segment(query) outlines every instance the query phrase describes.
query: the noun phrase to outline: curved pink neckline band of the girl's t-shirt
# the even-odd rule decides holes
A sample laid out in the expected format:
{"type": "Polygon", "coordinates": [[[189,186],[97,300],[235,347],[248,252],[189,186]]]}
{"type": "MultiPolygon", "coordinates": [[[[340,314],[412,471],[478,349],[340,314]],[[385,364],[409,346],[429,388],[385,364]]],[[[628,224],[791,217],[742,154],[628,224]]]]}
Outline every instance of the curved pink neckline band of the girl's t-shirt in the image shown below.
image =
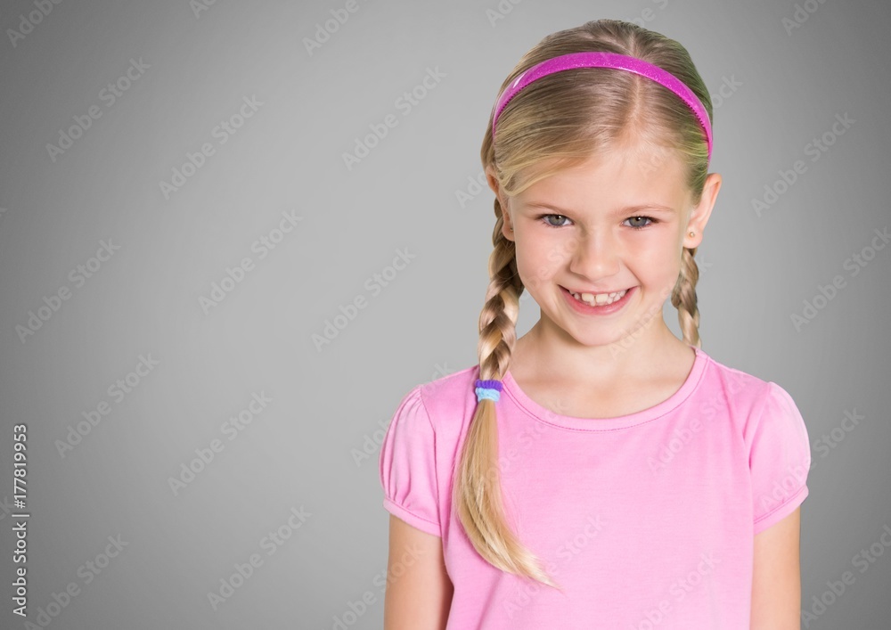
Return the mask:
{"type": "Polygon", "coordinates": [[[535,420],[545,424],[551,424],[564,429],[587,431],[626,429],[643,422],[656,420],[683,403],[687,397],[690,397],[693,390],[699,385],[699,380],[703,372],[705,372],[708,358],[707,354],[696,346],[691,346],[691,348],[695,352],[693,366],[687,374],[686,380],[683,381],[681,387],[674,394],[657,405],[615,418],[578,418],[552,412],[550,409],[536,403],[535,400],[527,396],[525,391],[519,388],[517,381],[513,380],[510,368],[504,372],[502,379],[503,389],[520,408],[535,420]]]}

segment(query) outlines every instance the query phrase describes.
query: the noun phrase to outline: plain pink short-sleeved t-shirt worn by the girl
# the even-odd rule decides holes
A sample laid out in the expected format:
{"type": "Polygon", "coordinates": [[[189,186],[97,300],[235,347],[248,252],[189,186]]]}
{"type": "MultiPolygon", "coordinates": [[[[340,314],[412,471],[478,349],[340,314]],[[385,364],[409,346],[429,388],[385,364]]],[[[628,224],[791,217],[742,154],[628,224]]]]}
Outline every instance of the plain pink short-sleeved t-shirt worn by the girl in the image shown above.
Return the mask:
{"type": "Polygon", "coordinates": [[[448,630],[748,630],[753,537],[805,500],[807,430],[780,386],[694,349],[673,396],[618,418],[554,413],[505,374],[508,522],[563,593],[495,569],[453,513],[478,366],[403,398],[380,451],[383,504],[442,538],[448,630]]]}

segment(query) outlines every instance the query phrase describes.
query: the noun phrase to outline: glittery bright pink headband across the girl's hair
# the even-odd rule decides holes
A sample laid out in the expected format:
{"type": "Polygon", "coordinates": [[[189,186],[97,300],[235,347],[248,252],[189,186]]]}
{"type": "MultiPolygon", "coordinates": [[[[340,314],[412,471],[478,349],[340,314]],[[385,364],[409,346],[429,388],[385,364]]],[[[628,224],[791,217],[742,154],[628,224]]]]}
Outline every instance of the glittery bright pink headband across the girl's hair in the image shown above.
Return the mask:
{"type": "Polygon", "coordinates": [[[637,57],[630,57],[625,54],[617,53],[569,53],[559,57],[553,57],[536,64],[515,78],[510,86],[504,89],[504,92],[495,103],[494,115],[492,118],[492,137],[495,137],[495,122],[501,115],[502,110],[511,99],[519,93],[524,87],[533,81],[546,77],[554,72],[562,70],[574,70],[576,68],[615,68],[617,70],[627,70],[643,77],[650,78],[662,86],[666,86],[669,90],[681,97],[681,100],[687,103],[687,106],[696,114],[699,124],[702,125],[706,132],[706,140],[708,143],[708,158],[712,157],[712,126],[708,119],[706,108],[699,102],[696,94],[683,84],[679,78],[670,72],[662,70],[658,66],[654,66],[648,61],[643,61],[637,57]]]}

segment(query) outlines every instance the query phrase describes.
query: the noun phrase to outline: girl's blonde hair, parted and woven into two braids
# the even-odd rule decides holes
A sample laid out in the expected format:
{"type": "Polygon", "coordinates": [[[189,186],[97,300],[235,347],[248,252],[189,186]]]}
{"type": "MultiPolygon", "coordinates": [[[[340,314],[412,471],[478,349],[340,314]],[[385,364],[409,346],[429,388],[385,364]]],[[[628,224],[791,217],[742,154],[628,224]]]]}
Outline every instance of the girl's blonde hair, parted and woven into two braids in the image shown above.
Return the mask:
{"type": "MultiPolygon", "coordinates": [[[[544,37],[511,71],[501,91],[536,63],[584,51],[623,53],[650,61],[690,87],[709,118],[713,116],[706,86],[683,46],[618,20],[589,21],[544,37]]],[[[495,169],[504,193],[514,195],[560,168],[609,151],[632,135],[648,147],[661,150],[661,155],[678,155],[683,160],[693,204],[698,204],[708,167],[702,127],[677,95],[631,72],[575,69],[539,78],[504,108],[498,119],[497,144],[493,142],[490,117],[480,157],[484,168],[495,169]]],[[[658,162],[652,168],[658,168],[658,162]]],[[[502,233],[503,211],[497,197],[495,219],[490,282],[479,316],[478,378],[482,380],[502,380],[508,369],[516,341],[519,297],[524,289],[514,242],[502,233]]],[[[700,348],[695,253],[696,248],[683,250],[671,302],[678,309],[683,340],[700,348]]],[[[495,401],[478,402],[464,440],[453,497],[459,520],[474,548],[490,564],[560,588],[507,523],[499,481],[495,408],[495,401]]]]}

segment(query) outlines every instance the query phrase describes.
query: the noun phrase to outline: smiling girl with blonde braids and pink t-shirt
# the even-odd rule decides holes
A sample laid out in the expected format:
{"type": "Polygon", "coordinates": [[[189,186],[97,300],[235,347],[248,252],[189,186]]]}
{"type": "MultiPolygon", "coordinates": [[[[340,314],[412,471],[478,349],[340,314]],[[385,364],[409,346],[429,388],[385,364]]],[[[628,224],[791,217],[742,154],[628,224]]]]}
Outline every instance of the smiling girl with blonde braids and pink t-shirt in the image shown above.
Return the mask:
{"type": "Polygon", "coordinates": [[[683,46],[621,21],[504,82],[479,363],[409,392],[381,447],[387,630],[799,627],[805,423],[700,349],[711,119],[683,46]]]}

